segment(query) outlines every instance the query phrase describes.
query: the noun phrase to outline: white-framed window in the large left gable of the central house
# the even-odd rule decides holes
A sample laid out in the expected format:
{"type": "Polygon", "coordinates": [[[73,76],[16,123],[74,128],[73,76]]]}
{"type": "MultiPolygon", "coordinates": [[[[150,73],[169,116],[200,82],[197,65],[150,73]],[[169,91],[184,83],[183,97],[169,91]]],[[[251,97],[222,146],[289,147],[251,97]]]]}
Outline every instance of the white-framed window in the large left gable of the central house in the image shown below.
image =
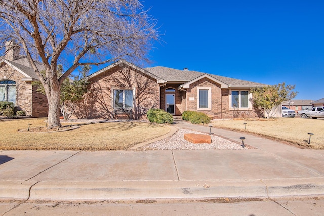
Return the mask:
{"type": "Polygon", "coordinates": [[[113,93],[114,108],[132,108],[133,107],[133,90],[116,89],[113,93]]]}

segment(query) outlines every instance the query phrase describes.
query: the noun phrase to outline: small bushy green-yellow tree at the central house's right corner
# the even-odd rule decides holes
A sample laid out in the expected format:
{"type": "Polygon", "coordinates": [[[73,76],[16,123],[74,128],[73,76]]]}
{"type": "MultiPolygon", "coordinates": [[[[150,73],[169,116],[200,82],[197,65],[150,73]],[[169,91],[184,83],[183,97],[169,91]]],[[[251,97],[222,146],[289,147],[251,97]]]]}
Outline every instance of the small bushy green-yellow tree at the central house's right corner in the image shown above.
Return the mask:
{"type": "Polygon", "coordinates": [[[296,97],[294,92],[295,85],[285,85],[285,82],[277,85],[267,85],[262,88],[252,88],[253,97],[250,99],[253,108],[259,117],[267,114],[267,119],[275,114],[275,109],[284,101],[291,100],[296,97]]]}

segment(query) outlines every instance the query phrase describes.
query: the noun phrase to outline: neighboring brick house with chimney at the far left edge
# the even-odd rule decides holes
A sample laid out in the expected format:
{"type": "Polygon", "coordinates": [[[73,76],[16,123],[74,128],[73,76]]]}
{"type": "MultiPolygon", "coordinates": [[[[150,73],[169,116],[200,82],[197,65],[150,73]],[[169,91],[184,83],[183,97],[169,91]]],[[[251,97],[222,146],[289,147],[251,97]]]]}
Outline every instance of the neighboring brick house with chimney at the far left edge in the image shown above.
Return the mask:
{"type": "MultiPolygon", "coordinates": [[[[17,110],[25,111],[28,116],[46,117],[47,98],[31,85],[31,81],[38,80],[37,75],[19,51],[20,48],[9,41],[5,55],[0,57],[0,101],[13,102],[17,110]]],[[[43,69],[41,64],[37,67],[43,69]]]]}

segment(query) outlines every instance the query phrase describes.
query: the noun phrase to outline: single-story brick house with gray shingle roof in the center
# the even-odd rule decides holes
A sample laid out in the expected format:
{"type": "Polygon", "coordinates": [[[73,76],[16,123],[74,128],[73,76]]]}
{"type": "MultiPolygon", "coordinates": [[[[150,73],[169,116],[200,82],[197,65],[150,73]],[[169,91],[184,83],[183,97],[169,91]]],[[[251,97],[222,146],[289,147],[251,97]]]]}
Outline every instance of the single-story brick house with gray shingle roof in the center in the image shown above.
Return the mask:
{"type": "Polygon", "coordinates": [[[86,99],[77,117],[113,118],[115,109],[132,109],[133,118],[145,118],[150,108],[172,115],[186,110],[213,118],[255,117],[250,93],[264,84],[167,67],[140,68],[120,60],[88,76],[86,99]]]}

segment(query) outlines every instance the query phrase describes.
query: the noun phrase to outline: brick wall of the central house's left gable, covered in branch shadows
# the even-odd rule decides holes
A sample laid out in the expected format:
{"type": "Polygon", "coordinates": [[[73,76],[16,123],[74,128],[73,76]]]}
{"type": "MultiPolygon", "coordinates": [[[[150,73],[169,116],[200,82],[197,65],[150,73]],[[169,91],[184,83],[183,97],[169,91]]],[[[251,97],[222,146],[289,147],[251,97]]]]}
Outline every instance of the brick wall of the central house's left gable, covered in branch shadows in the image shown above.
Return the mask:
{"type": "Polygon", "coordinates": [[[89,80],[89,92],[75,112],[83,118],[113,118],[113,89],[135,88],[135,119],[146,118],[151,108],[159,108],[159,85],[156,80],[130,68],[116,66],[89,80]]]}

